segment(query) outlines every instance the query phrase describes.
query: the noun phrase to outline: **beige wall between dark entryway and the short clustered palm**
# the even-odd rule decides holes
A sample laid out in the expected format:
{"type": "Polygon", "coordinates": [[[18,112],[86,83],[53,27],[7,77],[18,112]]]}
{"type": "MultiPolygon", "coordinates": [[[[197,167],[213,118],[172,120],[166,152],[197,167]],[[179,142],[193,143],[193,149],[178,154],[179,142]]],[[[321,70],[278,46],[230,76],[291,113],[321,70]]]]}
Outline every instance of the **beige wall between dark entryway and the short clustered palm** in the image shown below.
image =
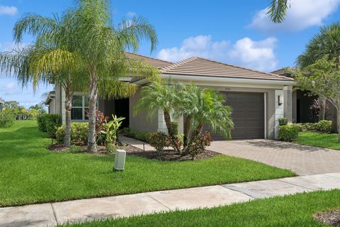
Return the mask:
{"type": "Polygon", "coordinates": [[[140,93],[137,92],[135,95],[130,96],[129,112],[130,112],[130,128],[138,131],[158,131],[159,116],[151,116],[147,118],[147,112],[142,111],[137,116],[134,116],[133,109],[140,99],[140,93]]]}

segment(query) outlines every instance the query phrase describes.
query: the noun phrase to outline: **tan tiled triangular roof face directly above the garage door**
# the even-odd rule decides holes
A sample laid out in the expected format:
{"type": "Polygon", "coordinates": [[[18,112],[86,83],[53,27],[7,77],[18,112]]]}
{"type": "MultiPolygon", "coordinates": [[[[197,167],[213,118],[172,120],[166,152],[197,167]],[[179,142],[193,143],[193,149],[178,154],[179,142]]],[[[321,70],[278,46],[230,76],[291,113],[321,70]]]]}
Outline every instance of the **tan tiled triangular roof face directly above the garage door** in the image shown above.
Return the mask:
{"type": "Polygon", "coordinates": [[[290,77],[278,74],[249,70],[244,67],[229,65],[208,60],[202,57],[191,57],[173,65],[162,68],[163,74],[192,75],[205,77],[234,77],[242,79],[288,80],[290,77]]]}

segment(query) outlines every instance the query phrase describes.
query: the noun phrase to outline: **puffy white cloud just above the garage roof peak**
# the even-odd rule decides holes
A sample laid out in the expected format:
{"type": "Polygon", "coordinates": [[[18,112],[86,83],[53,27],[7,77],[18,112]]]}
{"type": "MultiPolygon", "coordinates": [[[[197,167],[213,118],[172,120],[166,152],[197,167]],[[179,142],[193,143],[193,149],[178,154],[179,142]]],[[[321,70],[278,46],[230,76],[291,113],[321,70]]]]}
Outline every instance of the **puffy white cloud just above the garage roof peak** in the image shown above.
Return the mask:
{"type": "Polygon", "coordinates": [[[270,71],[274,70],[278,63],[274,52],[276,41],[276,38],[259,41],[242,38],[231,45],[229,40],[213,41],[211,35],[198,35],[183,40],[179,48],[160,50],[157,57],[170,62],[179,62],[193,56],[206,57],[256,70],[270,71]]]}

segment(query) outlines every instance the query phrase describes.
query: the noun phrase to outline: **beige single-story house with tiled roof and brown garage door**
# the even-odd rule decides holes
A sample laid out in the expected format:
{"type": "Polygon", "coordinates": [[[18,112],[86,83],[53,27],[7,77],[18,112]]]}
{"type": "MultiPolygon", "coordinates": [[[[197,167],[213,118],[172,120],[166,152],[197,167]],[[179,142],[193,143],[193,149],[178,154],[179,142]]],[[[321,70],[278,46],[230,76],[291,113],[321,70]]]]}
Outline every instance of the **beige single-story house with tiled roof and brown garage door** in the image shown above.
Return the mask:
{"type": "MultiPolygon", "coordinates": [[[[291,96],[294,79],[284,75],[249,70],[244,67],[228,65],[222,62],[208,60],[202,57],[191,57],[181,62],[172,63],[153,57],[127,53],[129,57],[149,62],[157,67],[163,79],[171,82],[210,87],[222,92],[226,97],[226,104],[232,106],[234,130],[232,138],[276,138],[278,134],[278,119],[284,116],[292,121],[291,96]]],[[[130,81],[144,86],[146,79],[130,81]]],[[[86,121],[88,101],[86,94],[74,93],[72,121],[86,121]]],[[[146,113],[134,116],[134,106],[140,99],[140,94],[130,96],[129,99],[98,101],[98,109],[105,115],[124,116],[124,127],[139,131],[166,131],[162,111],[158,116],[147,118],[146,113]]],[[[58,84],[55,91],[50,92],[46,103],[49,112],[64,115],[64,92],[58,84]]],[[[207,128],[209,130],[209,128],[207,128]]],[[[183,119],[179,121],[179,131],[183,132],[183,119]]],[[[212,133],[212,137],[220,139],[212,133]]]]}

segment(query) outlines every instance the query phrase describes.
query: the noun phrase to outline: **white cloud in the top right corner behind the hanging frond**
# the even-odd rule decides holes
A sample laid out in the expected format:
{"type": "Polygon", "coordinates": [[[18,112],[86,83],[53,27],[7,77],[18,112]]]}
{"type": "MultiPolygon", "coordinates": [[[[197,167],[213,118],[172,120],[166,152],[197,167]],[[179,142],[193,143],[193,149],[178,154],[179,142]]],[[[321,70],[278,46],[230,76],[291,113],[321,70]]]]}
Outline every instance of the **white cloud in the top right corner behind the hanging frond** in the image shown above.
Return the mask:
{"type": "Polygon", "coordinates": [[[334,13],[340,0],[294,0],[288,9],[283,23],[273,23],[268,9],[262,9],[254,16],[249,28],[256,28],[263,32],[300,31],[311,26],[320,26],[322,21],[334,13]]]}

